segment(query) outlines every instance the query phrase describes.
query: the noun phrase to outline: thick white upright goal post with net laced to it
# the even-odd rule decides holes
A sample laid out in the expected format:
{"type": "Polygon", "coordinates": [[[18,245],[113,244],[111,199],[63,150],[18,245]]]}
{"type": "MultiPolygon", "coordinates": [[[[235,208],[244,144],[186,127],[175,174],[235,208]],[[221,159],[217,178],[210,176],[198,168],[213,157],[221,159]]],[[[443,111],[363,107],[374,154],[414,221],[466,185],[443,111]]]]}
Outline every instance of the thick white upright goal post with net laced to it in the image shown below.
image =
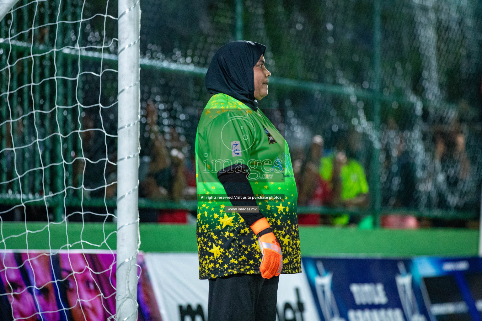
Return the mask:
{"type": "Polygon", "coordinates": [[[116,320],[137,320],[140,5],[119,0],[116,320]]]}

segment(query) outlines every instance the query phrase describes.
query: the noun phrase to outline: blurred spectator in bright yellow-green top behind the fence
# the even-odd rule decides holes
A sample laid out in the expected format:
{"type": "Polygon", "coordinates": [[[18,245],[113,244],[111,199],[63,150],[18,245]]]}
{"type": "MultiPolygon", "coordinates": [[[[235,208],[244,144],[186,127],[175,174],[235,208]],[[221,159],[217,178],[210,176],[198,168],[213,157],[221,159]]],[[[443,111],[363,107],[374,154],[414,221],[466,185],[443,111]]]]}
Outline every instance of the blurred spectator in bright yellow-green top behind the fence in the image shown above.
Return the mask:
{"type": "MultiPolygon", "coordinates": [[[[328,156],[322,157],[320,162],[320,177],[328,182],[331,189],[332,206],[363,209],[368,206],[368,182],[363,166],[355,159],[359,148],[357,132],[350,131],[338,140],[336,150],[328,156]]],[[[334,225],[345,226],[358,223],[361,229],[373,227],[373,218],[366,216],[360,221],[350,218],[345,213],[332,218],[334,225]]]]}

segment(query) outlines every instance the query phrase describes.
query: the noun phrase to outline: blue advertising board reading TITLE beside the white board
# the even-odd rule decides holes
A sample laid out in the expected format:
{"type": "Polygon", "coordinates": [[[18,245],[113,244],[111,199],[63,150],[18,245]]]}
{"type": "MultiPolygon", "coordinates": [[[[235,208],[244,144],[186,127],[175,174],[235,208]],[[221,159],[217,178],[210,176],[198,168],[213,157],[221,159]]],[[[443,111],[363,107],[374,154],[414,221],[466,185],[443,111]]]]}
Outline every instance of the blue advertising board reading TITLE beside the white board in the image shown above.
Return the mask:
{"type": "Polygon", "coordinates": [[[304,257],[324,321],[428,321],[410,259],[304,257]]]}

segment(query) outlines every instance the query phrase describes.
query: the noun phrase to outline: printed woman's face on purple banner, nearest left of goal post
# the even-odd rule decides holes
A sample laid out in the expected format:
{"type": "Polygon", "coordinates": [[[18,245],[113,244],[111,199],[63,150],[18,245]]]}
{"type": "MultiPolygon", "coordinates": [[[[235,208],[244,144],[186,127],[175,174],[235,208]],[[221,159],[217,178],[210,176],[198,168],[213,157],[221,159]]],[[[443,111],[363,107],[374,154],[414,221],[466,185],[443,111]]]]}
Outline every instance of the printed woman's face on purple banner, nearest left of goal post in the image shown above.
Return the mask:
{"type": "Polygon", "coordinates": [[[62,279],[67,278],[67,300],[74,321],[104,321],[101,292],[84,256],[60,254],[60,269],[62,279]]]}

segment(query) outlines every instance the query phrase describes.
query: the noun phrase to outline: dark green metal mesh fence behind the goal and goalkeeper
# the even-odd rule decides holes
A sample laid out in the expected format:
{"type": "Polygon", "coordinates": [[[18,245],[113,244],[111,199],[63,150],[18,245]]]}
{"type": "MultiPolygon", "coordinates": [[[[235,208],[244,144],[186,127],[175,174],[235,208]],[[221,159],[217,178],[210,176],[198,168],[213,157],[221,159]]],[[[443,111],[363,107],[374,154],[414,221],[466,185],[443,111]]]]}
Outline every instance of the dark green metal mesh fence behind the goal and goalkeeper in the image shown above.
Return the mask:
{"type": "MultiPolygon", "coordinates": [[[[115,207],[117,3],[107,11],[104,1],[82,3],[21,0],[0,23],[0,212],[45,205],[61,220],[82,206],[115,207]]],[[[370,206],[349,212],[478,216],[478,1],[146,0],[141,9],[147,162],[155,125],[169,153],[163,157],[174,162],[178,150],[189,167],[197,109],[209,99],[210,58],[246,39],[268,47],[272,77],[260,107],[285,111],[280,131],[294,164],[307,161],[315,134],[325,156],[353,138],[349,155],[365,170],[370,206]],[[156,124],[147,119],[150,105],[156,124]]],[[[196,208],[161,198],[139,204],[196,208]]]]}

